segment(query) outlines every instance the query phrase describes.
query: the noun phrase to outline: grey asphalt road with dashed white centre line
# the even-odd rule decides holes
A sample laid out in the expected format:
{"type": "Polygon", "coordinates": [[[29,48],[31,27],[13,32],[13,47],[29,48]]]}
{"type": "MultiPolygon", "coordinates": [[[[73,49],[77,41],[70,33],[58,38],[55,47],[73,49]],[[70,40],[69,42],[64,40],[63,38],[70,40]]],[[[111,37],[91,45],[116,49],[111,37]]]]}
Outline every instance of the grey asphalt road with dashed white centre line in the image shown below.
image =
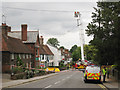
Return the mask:
{"type": "Polygon", "coordinates": [[[78,70],[69,70],[59,72],[57,75],[44,78],[41,80],[25,83],[22,85],[10,87],[10,88],[99,88],[102,90],[98,83],[84,83],[83,72],[78,70]]]}

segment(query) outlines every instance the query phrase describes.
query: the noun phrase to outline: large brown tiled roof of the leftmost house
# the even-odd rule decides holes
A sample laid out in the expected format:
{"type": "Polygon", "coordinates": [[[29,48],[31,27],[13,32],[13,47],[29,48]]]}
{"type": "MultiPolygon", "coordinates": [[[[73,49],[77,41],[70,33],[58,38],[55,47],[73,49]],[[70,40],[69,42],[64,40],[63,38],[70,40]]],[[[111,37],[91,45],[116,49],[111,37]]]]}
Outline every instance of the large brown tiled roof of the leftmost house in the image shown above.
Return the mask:
{"type": "Polygon", "coordinates": [[[6,35],[2,35],[2,51],[9,51],[11,53],[32,53],[20,39],[6,35]]]}

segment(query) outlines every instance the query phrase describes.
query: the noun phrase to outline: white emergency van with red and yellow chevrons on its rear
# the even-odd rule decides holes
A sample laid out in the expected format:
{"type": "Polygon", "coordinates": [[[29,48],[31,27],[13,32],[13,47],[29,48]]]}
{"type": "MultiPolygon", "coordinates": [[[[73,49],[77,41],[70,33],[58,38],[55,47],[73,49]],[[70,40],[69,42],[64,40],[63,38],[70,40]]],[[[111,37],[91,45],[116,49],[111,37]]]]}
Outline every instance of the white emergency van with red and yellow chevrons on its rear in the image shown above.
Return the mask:
{"type": "Polygon", "coordinates": [[[84,73],[84,82],[86,83],[88,80],[97,80],[101,81],[101,70],[98,66],[87,66],[84,73]]]}

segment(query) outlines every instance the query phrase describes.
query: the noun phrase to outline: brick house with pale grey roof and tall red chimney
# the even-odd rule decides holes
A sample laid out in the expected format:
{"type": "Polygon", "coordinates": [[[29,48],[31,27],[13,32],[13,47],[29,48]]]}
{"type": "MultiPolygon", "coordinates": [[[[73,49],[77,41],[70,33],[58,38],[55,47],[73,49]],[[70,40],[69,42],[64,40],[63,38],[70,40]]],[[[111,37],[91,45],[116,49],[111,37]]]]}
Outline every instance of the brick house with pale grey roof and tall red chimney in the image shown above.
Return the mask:
{"type": "Polygon", "coordinates": [[[39,31],[28,31],[27,24],[21,25],[21,31],[10,31],[8,35],[11,37],[19,38],[22,42],[32,50],[33,60],[32,67],[38,67],[40,64],[40,40],[39,40],[39,31]]]}

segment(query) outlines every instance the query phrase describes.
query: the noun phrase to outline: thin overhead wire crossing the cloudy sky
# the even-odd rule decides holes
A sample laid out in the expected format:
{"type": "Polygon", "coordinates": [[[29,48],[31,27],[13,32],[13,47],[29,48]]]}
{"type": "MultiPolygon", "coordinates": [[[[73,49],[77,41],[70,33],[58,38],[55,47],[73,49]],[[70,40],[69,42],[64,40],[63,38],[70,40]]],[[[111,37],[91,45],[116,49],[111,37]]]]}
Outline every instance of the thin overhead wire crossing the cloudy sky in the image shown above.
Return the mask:
{"type": "MultiPolygon", "coordinates": [[[[72,10],[47,10],[47,9],[27,9],[27,8],[16,8],[16,7],[3,7],[3,8],[8,8],[8,9],[17,9],[17,10],[26,10],[26,11],[42,11],[42,12],[74,12],[72,10]]],[[[82,10],[78,10],[80,12],[91,12],[91,11],[82,11],[82,10]]]]}

